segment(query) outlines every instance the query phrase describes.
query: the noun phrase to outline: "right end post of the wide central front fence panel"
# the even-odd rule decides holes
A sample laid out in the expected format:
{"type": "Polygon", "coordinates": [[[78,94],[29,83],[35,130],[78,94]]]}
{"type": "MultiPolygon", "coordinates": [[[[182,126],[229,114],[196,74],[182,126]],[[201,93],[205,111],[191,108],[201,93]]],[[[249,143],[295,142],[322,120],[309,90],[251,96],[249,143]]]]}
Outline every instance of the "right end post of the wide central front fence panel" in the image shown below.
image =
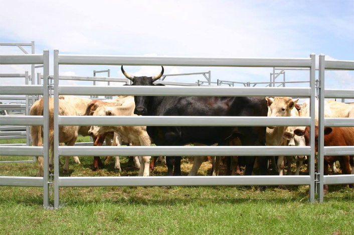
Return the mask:
{"type": "Polygon", "coordinates": [[[315,202],[315,89],[316,89],[316,55],[310,54],[311,57],[311,68],[310,68],[310,87],[311,87],[311,97],[310,97],[310,147],[311,155],[309,160],[308,171],[310,174],[310,198],[311,203],[315,202]]]}

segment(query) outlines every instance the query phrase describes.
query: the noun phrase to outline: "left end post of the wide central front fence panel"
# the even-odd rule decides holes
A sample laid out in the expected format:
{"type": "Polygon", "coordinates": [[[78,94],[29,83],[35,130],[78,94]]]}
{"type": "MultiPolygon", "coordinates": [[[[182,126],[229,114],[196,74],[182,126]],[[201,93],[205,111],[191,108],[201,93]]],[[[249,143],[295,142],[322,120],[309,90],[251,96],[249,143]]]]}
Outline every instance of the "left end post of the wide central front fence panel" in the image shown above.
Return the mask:
{"type": "Polygon", "coordinates": [[[59,208],[59,50],[54,50],[54,207],[59,208]]]}

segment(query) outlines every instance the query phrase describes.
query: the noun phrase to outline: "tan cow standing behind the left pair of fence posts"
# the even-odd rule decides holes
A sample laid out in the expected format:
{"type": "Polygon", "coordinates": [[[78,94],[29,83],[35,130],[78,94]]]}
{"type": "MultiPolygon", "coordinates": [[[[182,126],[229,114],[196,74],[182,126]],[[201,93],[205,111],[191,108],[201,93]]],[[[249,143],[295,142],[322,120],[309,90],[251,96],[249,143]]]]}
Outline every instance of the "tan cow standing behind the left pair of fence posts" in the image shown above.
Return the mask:
{"type": "MultiPolygon", "coordinates": [[[[53,98],[49,98],[49,170],[53,168],[53,148],[54,148],[54,103],[53,98]]],[[[76,115],[75,107],[63,99],[59,99],[59,115],[76,115]]],[[[34,102],[31,107],[30,115],[43,115],[43,98],[34,102]]],[[[33,146],[42,146],[43,130],[42,126],[31,126],[31,136],[33,146]]],[[[78,126],[59,126],[59,142],[67,145],[74,145],[78,134],[78,126]]],[[[39,170],[37,176],[43,176],[43,156],[37,157],[39,170]]],[[[69,172],[69,156],[65,157],[64,173],[69,172]]]]}

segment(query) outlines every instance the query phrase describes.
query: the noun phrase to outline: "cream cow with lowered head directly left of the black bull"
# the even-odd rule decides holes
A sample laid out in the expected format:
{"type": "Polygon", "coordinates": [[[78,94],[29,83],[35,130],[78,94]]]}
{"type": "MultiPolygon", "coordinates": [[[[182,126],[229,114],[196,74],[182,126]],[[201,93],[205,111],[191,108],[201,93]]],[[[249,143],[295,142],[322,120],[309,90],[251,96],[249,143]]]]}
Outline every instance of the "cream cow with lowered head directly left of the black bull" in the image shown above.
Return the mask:
{"type": "MultiPolygon", "coordinates": [[[[93,115],[135,115],[135,104],[121,106],[100,106],[93,115]]],[[[135,146],[150,146],[151,139],[146,132],[146,126],[92,126],[90,128],[91,135],[98,135],[108,131],[117,132],[125,142],[131,142],[135,146]]],[[[140,171],[139,176],[149,175],[149,162],[151,156],[139,156],[140,171]]]]}

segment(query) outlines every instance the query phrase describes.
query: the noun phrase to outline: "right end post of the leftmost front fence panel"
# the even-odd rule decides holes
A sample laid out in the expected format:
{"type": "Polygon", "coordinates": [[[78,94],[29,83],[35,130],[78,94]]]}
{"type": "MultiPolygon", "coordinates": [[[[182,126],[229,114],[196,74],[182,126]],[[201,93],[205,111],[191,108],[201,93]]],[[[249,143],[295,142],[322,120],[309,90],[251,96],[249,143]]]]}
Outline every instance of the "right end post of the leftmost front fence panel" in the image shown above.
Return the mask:
{"type": "Polygon", "coordinates": [[[49,50],[43,51],[43,206],[49,206],[49,50]]]}

